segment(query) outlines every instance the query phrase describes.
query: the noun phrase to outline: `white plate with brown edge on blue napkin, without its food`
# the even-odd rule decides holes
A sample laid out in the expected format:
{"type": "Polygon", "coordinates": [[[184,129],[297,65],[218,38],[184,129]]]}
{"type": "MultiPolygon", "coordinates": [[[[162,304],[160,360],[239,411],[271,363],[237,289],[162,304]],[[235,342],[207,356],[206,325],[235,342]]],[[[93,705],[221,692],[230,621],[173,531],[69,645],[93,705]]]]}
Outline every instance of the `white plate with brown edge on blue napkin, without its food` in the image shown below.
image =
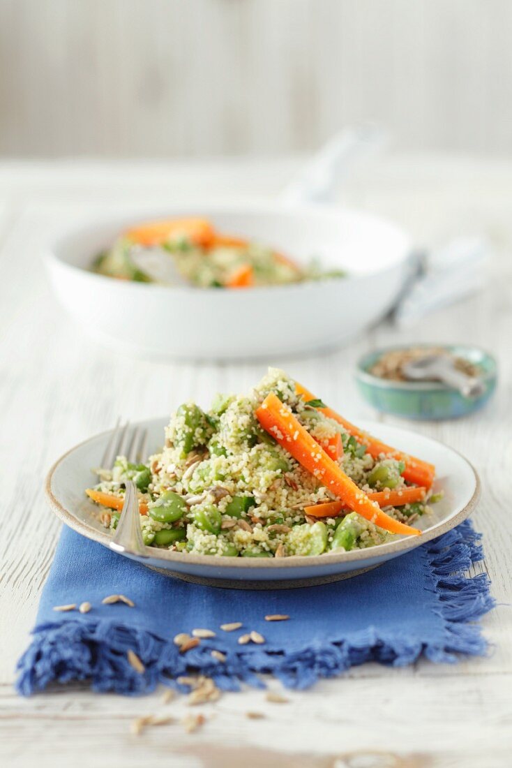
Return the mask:
{"type": "MultiPolygon", "coordinates": [[[[161,445],[167,422],[168,419],[140,422],[140,426],[148,431],[150,452],[161,445]]],[[[213,586],[299,587],[336,581],[375,568],[449,531],[470,515],[478,500],[479,482],[473,467],[463,456],[441,442],[398,427],[364,422],[362,428],[389,445],[436,465],[434,490],[443,490],[444,499],[434,505],[433,515],[424,515],[415,522],[423,529],[421,536],[395,536],[376,547],[352,552],[338,550],[309,558],[216,558],[146,547],[147,557],[134,559],[171,576],[213,586]]],[[[85,496],[84,488],[95,482],[91,467],[101,463],[110,435],[111,432],[96,435],[61,456],[48,473],[45,487],[48,502],[58,517],[81,535],[104,546],[111,541],[111,531],[106,531],[98,521],[99,508],[85,496]]],[[[119,557],[123,556],[130,557],[119,554],[119,557]]]]}

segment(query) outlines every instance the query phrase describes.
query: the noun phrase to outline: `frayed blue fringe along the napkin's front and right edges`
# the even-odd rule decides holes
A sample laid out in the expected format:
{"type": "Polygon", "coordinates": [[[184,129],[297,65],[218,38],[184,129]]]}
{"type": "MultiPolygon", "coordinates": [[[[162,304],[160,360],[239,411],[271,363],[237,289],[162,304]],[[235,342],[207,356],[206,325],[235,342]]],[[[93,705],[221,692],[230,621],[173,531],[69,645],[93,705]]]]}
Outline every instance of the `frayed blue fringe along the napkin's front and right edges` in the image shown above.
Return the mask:
{"type": "Polygon", "coordinates": [[[465,575],[483,558],[481,536],[469,521],[424,546],[429,590],[438,598],[434,609],[444,621],[438,644],[424,643],[407,634],[387,637],[374,627],[353,634],[349,641],[325,641],[303,651],[251,647],[228,651],[226,663],[213,660],[211,648],[199,646],[180,654],[172,641],[148,631],[112,622],[74,621],[35,628],[34,639],[18,662],[17,690],[28,696],[52,683],[90,680],[93,690],[118,694],[146,694],[158,684],[176,682],[190,670],[213,677],[223,690],[239,690],[240,683],[264,687],[259,674],[273,674],[286,687],[306,688],[320,677],[335,677],[349,667],[378,661],[395,667],[413,663],[422,654],[435,662],[454,663],[456,654],[478,655],[487,650],[477,621],[494,606],[487,574],[465,575]],[[145,671],[130,664],[134,650],[145,671]]]}

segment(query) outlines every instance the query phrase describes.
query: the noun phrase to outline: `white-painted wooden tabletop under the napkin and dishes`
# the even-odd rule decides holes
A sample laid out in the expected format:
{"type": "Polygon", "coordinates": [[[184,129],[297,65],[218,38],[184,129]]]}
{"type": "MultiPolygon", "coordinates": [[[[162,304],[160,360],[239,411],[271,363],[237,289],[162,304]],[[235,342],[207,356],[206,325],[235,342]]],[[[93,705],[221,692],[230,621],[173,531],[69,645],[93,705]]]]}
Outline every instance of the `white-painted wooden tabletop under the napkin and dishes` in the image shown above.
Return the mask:
{"type": "MultiPolygon", "coordinates": [[[[84,339],[64,317],[45,282],[41,243],[66,221],[202,197],[273,195],[295,161],[199,164],[0,165],[0,763],[5,766],[509,766],[512,706],[512,613],[484,618],[491,657],[457,666],[421,661],[389,670],[376,664],[322,681],[289,703],[259,691],[224,695],[202,710],[200,732],[180,726],[129,733],[140,713],[162,707],[144,699],[97,696],[78,687],[24,700],[12,689],[15,659],[28,643],[60,523],[41,498],[51,462],[75,442],[114,423],[170,412],[190,397],[244,389],[262,364],[167,365],[125,360],[84,339]],[[246,712],[265,714],[249,720],[246,712]],[[2,761],[5,759],[5,762],[2,761]]],[[[398,333],[381,326],[339,352],[282,363],[292,375],[343,403],[355,418],[374,416],[358,399],[355,360],[390,341],[471,341],[497,353],[500,387],[471,419],[421,424],[464,452],[483,481],[474,521],[484,532],[497,601],[510,596],[512,418],[512,164],[448,157],[388,157],[345,185],[341,199],[389,214],[431,243],[483,231],[494,242],[491,284],[470,300],[398,333]]],[[[279,364],[279,360],[269,363],[279,364]]],[[[184,703],[167,705],[183,715],[184,703]]]]}

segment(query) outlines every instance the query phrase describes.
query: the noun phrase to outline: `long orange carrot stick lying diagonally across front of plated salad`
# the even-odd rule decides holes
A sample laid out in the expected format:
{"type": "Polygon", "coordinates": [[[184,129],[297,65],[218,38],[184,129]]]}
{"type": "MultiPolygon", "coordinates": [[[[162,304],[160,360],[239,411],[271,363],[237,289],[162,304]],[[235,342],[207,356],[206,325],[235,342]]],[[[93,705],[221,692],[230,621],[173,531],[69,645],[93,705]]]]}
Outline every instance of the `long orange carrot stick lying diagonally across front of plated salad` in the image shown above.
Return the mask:
{"type": "Polygon", "coordinates": [[[329,488],[329,491],[339,496],[346,506],[391,533],[420,535],[421,531],[417,528],[394,520],[381,511],[376,502],[371,502],[273,392],[266,396],[256,410],[256,419],[282,448],[329,488]]]}

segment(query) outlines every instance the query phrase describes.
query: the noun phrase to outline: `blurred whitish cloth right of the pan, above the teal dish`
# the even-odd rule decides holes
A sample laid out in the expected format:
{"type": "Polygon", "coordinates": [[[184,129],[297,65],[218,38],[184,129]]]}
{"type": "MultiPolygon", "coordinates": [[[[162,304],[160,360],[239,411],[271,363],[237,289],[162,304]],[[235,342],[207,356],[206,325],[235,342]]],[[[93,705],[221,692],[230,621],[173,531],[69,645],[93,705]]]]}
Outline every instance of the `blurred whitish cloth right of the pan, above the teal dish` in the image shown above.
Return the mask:
{"type": "Polygon", "coordinates": [[[400,326],[480,290],[487,283],[490,247],[481,237],[456,237],[430,253],[411,257],[411,277],[395,307],[400,326]]]}

